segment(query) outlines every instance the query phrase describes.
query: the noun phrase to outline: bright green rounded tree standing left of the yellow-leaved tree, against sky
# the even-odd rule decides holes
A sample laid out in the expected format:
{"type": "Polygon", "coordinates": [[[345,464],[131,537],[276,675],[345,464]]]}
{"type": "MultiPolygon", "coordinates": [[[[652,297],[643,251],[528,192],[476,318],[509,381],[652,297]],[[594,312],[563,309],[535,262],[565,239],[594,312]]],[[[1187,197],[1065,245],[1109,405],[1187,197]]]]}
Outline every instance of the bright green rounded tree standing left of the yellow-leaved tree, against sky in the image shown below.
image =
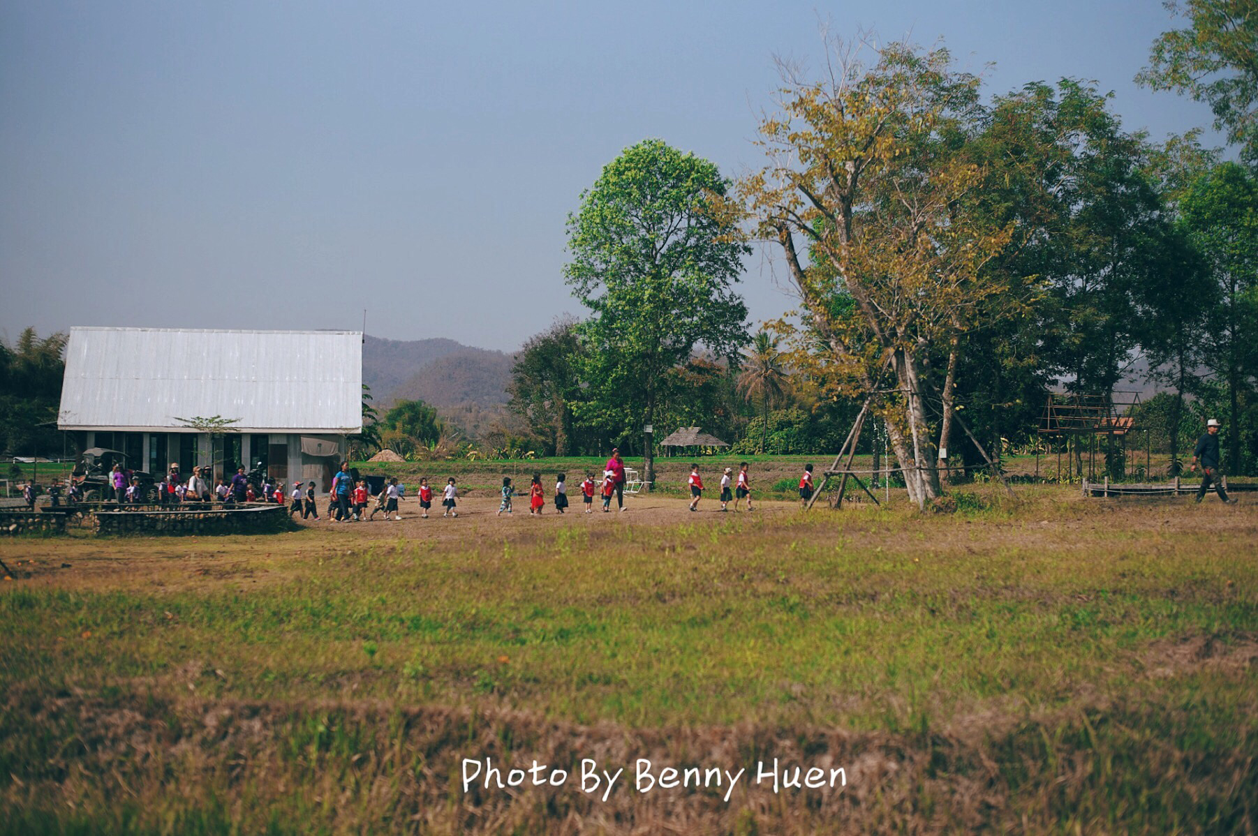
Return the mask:
{"type": "MultiPolygon", "coordinates": [[[[625,148],[569,216],[564,275],[590,309],[579,327],[584,421],[626,437],[657,417],[669,375],[698,346],[721,357],[747,342],[733,285],[750,248],[716,165],[660,140],[625,148]]],[[[650,444],[644,478],[654,481],[650,444]]]]}

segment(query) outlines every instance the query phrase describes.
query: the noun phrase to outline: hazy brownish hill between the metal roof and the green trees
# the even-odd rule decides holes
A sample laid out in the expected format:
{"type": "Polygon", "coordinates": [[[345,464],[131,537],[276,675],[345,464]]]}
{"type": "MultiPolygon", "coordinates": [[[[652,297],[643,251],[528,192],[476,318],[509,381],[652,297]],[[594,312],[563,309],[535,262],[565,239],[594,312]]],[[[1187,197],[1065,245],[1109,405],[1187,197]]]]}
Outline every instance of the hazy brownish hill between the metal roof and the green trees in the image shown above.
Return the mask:
{"type": "Polygon", "coordinates": [[[507,402],[511,355],[453,339],[381,339],[362,344],[362,382],[377,409],[398,400],[433,406],[501,406],[507,402]]]}

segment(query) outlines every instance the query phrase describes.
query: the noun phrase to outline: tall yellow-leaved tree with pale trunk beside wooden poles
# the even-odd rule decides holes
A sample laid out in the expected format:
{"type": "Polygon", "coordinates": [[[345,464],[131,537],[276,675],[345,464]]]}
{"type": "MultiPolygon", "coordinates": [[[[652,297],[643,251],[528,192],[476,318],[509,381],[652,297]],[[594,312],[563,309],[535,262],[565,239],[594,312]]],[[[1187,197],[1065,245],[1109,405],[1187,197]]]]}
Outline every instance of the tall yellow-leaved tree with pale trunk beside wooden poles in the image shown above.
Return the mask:
{"type": "Polygon", "coordinates": [[[1014,230],[982,205],[990,170],[966,152],[979,79],[945,49],[830,45],[820,82],[784,67],[767,163],[742,196],[799,292],[791,366],[869,399],[925,505],[941,494],[966,333],[1019,309],[1006,272],[988,269],[1014,230]]]}

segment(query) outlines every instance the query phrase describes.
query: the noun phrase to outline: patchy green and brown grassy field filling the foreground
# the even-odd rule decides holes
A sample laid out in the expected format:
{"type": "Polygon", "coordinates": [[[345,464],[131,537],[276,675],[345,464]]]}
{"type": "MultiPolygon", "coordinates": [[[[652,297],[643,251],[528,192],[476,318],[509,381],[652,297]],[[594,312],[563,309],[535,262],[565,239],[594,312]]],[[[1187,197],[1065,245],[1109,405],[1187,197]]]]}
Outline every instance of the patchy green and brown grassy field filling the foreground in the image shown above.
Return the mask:
{"type": "Polygon", "coordinates": [[[1019,497],[0,541],[0,830],[1253,832],[1254,499],[1019,497]]]}

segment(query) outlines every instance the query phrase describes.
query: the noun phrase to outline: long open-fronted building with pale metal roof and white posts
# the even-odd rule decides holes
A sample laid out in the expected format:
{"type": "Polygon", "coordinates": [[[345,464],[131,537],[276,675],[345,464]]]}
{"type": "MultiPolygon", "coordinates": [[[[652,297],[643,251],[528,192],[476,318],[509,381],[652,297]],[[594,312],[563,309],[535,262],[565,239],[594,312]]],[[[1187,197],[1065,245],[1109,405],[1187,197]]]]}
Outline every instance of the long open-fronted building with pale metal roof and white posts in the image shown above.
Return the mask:
{"type": "Polygon", "coordinates": [[[284,483],[331,484],[362,431],[356,331],[70,328],[57,425],[79,449],[127,454],[160,478],[171,463],[214,476],[262,461],[284,483]],[[234,419],[211,436],[186,420],[234,419]]]}

